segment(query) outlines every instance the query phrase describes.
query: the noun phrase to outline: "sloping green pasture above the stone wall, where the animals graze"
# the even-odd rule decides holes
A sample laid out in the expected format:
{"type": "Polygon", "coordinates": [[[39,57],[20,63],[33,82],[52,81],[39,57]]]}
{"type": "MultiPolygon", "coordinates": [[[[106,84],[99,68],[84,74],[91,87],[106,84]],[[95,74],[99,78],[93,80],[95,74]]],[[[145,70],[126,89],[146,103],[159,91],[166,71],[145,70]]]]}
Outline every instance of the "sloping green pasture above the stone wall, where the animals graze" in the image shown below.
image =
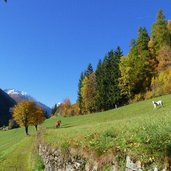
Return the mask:
{"type": "Polygon", "coordinates": [[[162,96],[164,108],[153,110],[151,100],[93,115],[60,118],[44,123],[45,141],[53,146],[73,146],[99,155],[109,149],[115,154],[131,155],[145,164],[166,164],[171,152],[171,95],[162,96]],[[165,163],[166,162],[166,163],[165,163]]]}

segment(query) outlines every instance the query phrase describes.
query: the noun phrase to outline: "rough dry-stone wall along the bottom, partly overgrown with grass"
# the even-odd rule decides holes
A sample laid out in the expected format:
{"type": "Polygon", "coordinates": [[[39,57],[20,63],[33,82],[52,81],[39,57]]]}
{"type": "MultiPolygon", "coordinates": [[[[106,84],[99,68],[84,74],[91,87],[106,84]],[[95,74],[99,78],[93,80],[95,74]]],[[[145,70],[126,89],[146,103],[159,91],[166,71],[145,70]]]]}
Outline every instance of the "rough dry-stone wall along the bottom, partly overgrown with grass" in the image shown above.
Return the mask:
{"type": "MultiPolygon", "coordinates": [[[[70,151],[62,152],[59,149],[53,149],[50,146],[40,144],[39,155],[41,156],[45,171],[101,171],[98,161],[92,163],[79,155],[73,155],[70,151]]],[[[115,161],[110,164],[111,171],[121,171],[115,161]]],[[[143,171],[147,170],[141,166],[140,161],[133,162],[129,156],[126,157],[125,171],[143,171]]],[[[158,171],[157,167],[152,170],[158,171]]],[[[166,171],[163,169],[162,171],[166,171]]]]}

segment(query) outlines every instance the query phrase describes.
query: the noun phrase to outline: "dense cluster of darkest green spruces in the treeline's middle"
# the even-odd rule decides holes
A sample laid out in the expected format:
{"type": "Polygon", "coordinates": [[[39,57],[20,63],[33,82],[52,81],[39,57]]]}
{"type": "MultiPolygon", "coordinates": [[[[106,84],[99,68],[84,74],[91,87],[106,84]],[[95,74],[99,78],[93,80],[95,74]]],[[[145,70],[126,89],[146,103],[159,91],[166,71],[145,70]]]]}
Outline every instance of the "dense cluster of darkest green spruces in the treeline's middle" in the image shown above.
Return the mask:
{"type": "Polygon", "coordinates": [[[111,50],[103,62],[99,62],[96,70],[97,106],[99,110],[114,108],[120,103],[119,63],[122,52],[120,48],[111,50]]]}

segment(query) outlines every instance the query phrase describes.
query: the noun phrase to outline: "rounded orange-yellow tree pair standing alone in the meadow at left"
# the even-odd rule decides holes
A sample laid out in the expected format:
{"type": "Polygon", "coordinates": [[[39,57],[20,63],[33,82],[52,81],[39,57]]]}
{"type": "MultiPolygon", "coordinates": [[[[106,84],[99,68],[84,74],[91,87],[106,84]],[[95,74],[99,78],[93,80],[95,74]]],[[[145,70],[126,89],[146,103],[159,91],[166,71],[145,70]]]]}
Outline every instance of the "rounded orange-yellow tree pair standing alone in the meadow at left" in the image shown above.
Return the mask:
{"type": "Polygon", "coordinates": [[[13,109],[13,118],[20,125],[25,127],[25,132],[28,135],[29,125],[37,125],[43,122],[44,114],[42,110],[31,101],[22,101],[18,103],[13,109]]]}

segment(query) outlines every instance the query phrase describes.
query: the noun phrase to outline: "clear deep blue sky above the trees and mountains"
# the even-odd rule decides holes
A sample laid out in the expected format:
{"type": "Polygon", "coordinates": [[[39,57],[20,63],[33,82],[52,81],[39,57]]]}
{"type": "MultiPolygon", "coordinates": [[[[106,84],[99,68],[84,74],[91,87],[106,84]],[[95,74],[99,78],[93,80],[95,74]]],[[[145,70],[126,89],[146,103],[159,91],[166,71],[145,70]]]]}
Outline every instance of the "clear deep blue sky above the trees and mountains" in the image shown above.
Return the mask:
{"type": "Polygon", "coordinates": [[[74,103],[80,73],[120,46],[156,13],[171,19],[170,0],[0,1],[0,88],[16,88],[53,106],[74,103]]]}

